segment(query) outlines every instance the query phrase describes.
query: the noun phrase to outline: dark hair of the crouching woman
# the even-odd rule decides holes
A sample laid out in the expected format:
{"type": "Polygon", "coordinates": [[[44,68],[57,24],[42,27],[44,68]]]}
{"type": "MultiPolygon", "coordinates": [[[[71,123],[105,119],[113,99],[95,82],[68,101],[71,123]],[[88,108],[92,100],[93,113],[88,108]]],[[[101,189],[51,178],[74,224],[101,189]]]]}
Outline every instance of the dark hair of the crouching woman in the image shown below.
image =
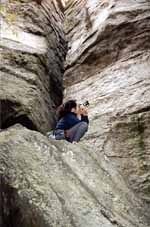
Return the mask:
{"type": "Polygon", "coordinates": [[[57,117],[58,119],[61,119],[66,113],[71,112],[72,108],[76,108],[77,103],[75,99],[69,100],[65,102],[64,104],[61,104],[57,108],[57,117]]]}

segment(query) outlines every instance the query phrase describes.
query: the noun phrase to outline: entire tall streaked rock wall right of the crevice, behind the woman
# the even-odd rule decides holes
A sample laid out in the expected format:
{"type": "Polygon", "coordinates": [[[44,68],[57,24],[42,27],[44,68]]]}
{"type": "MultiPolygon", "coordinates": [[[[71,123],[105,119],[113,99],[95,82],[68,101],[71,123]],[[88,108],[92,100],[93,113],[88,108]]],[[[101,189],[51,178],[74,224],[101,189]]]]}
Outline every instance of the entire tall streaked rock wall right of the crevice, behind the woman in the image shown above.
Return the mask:
{"type": "Polygon", "coordinates": [[[91,104],[85,143],[150,206],[150,2],[73,0],[65,27],[65,99],[91,104]]]}

